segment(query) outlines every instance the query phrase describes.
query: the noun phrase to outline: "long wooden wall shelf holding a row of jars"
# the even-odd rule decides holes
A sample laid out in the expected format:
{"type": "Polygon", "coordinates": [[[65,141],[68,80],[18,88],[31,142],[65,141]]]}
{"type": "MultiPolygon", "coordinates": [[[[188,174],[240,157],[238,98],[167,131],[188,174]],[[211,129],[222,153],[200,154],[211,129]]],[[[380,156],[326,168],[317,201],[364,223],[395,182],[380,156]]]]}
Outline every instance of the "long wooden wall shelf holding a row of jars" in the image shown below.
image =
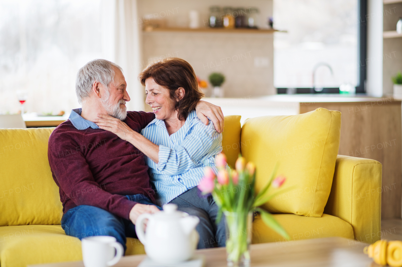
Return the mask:
{"type": "Polygon", "coordinates": [[[274,32],[287,32],[287,31],[279,31],[275,29],[247,29],[247,28],[234,28],[234,29],[225,29],[225,28],[152,28],[152,29],[144,29],[144,32],[230,32],[230,33],[258,33],[258,34],[270,34],[274,32]]]}

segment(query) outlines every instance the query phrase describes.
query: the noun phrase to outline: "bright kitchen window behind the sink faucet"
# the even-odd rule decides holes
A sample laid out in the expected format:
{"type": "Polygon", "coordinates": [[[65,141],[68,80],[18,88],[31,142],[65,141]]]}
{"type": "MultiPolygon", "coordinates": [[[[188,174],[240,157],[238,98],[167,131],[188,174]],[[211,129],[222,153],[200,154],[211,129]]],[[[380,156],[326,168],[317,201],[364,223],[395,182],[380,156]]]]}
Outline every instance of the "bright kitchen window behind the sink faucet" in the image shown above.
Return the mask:
{"type": "Polygon", "coordinates": [[[287,30],[275,33],[275,87],[314,85],[335,93],[341,85],[359,85],[357,0],[274,0],[273,5],[275,28],[287,30]]]}

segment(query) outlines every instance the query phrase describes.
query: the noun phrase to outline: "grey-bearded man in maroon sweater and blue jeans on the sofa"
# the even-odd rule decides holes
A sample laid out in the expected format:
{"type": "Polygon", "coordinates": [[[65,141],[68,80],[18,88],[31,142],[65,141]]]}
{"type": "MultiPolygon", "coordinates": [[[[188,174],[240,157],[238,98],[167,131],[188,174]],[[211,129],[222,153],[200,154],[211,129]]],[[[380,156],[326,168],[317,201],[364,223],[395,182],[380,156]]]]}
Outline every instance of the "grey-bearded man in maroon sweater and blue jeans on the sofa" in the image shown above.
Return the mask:
{"type": "MultiPolygon", "coordinates": [[[[154,213],[155,192],[150,184],[144,154],[93,121],[109,114],[141,132],[154,113],[126,111],[130,101],[121,67],[96,59],[82,67],[76,78],[76,94],[82,108],[73,109],[69,119],[49,138],[48,158],[63,203],[62,228],[66,235],[82,239],[109,235],[126,250],[126,237],[136,237],[135,220],[154,213]]],[[[197,116],[215,129],[223,129],[219,107],[199,101],[197,116]]]]}

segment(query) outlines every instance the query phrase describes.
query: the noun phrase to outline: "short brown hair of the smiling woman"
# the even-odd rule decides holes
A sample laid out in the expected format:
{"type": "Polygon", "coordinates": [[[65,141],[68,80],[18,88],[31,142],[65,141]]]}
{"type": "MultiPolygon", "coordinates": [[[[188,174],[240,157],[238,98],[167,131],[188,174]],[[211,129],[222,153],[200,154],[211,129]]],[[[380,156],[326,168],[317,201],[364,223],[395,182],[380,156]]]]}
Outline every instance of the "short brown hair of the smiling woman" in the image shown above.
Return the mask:
{"type": "Polygon", "coordinates": [[[198,88],[197,77],[193,67],[184,59],[168,57],[150,63],[139,75],[138,79],[145,86],[145,80],[153,78],[154,81],[170,91],[170,98],[176,100],[175,92],[183,87],[185,94],[182,99],[176,101],[175,109],[178,111],[179,120],[187,119],[190,111],[195,109],[203,93],[198,88]]]}

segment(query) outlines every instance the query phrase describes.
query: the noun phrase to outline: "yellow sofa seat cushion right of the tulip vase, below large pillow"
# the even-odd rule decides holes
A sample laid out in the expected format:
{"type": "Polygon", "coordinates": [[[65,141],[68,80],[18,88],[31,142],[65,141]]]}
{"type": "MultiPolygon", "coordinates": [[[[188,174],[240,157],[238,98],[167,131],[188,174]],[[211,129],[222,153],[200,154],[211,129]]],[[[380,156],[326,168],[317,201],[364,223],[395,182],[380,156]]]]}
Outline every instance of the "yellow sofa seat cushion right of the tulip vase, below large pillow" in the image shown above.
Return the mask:
{"type": "MultiPolygon", "coordinates": [[[[320,218],[295,214],[273,214],[273,216],[287,231],[290,241],[322,237],[355,239],[353,228],[349,223],[328,214],[322,214],[320,218]]],[[[260,215],[256,216],[252,227],[252,243],[254,244],[276,242],[282,245],[287,242],[281,235],[267,227],[260,215]]]]}

